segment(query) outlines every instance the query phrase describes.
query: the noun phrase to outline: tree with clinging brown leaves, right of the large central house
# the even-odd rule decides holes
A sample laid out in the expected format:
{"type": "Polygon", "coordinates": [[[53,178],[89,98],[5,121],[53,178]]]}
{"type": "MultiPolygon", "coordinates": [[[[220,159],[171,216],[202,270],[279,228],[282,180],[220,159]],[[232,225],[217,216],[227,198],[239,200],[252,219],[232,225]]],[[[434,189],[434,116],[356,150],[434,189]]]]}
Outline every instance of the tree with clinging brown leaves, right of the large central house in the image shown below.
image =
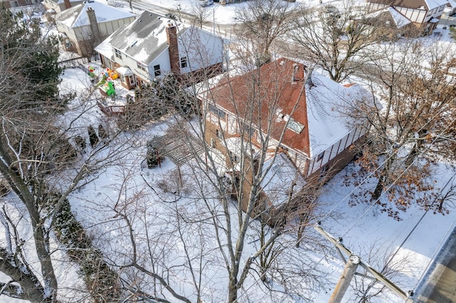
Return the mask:
{"type": "MultiPolygon", "coordinates": [[[[395,197],[398,206],[406,209],[408,193],[432,189],[426,176],[435,156],[454,157],[455,142],[450,137],[455,98],[450,70],[455,57],[437,41],[427,44],[409,39],[384,43],[371,50],[369,58],[364,77],[383,106],[359,102],[353,107],[353,114],[367,117],[373,127],[360,163],[366,168],[380,166],[372,198],[378,199],[384,188],[394,185],[390,198],[395,197]],[[415,161],[417,158],[427,161],[415,161]]],[[[429,198],[418,203],[425,206],[429,198]]]]}

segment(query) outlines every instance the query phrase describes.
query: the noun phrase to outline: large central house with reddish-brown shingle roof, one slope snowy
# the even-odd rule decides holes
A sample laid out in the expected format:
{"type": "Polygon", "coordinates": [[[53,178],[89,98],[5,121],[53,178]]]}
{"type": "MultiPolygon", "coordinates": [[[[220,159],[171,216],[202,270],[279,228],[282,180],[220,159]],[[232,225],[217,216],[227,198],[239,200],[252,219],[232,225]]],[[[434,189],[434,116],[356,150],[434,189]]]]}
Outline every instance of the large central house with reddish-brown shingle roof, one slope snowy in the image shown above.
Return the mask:
{"type": "MultiPolygon", "coordinates": [[[[239,143],[235,143],[240,142],[239,129],[245,129],[235,113],[244,115],[246,104],[252,102],[252,73],[232,78],[199,96],[206,112],[207,142],[221,147],[223,132],[229,141],[223,149],[228,149],[225,153],[234,163],[239,150],[239,143]]],[[[353,121],[348,110],[361,98],[372,100],[373,104],[372,95],[357,84],[341,85],[323,75],[306,75],[303,64],[286,58],[262,66],[259,74],[259,86],[264,84],[268,88],[256,92],[263,97],[261,108],[254,112],[261,112],[263,125],[252,121],[252,142],[260,142],[261,134],[266,134],[264,129],[271,127],[268,148],[284,152],[305,179],[343,169],[353,159],[351,147],[368,131],[367,122],[353,121]],[[271,102],[274,107],[268,106],[271,102]]]]}

